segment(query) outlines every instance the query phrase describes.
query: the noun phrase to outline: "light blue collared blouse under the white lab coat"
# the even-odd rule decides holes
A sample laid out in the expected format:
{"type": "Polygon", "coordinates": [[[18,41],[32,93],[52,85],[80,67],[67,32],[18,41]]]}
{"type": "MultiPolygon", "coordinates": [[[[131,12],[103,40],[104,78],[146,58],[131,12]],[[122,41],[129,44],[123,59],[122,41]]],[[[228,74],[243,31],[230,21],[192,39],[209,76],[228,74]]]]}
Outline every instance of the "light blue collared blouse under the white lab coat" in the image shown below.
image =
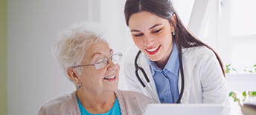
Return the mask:
{"type": "Polygon", "coordinates": [[[179,54],[176,45],[173,43],[172,53],[163,70],[155,62],[148,61],[160,102],[175,103],[179,98],[179,54]]]}

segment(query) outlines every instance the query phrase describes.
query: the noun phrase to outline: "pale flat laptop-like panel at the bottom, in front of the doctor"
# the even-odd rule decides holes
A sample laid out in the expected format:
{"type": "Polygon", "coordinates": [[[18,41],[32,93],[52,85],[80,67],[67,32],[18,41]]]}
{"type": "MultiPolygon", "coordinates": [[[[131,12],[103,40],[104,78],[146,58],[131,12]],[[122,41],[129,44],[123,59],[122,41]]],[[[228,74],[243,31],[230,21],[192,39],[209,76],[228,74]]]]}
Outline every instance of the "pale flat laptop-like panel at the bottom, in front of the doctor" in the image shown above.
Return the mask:
{"type": "Polygon", "coordinates": [[[223,115],[218,104],[150,104],[144,115],[223,115]]]}

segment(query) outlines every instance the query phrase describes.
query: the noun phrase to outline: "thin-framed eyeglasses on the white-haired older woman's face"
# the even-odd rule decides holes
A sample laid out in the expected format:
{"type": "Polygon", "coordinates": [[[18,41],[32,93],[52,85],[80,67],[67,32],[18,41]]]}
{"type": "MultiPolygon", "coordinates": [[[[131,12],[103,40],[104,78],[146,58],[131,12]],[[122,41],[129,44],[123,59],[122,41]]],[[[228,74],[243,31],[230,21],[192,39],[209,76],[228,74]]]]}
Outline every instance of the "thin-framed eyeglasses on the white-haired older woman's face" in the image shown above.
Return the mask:
{"type": "Polygon", "coordinates": [[[97,60],[93,65],[76,65],[70,68],[77,68],[77,67],[83,67],[83,66],[95,66],[95,69],[99,70],[99,69],[105,68],[106,65],[109,65],[109,59],[114,64],[117,64],[121,60],[122,56],[123,56],[122,53],[115,53],[112,56],[110,56],[110,58],[103,58],[103,59],[97,60]]]}

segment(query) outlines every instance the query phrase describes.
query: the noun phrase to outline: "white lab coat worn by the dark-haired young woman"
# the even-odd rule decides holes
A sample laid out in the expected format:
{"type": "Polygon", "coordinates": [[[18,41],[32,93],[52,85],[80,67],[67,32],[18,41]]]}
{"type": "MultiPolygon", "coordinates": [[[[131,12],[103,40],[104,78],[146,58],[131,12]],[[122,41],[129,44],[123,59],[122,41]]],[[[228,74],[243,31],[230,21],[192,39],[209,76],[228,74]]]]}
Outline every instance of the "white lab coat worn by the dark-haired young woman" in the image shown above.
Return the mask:
{"type": "MultiPolygon", "coordinates": [[[[124,60],[124,74],[127,79],[127,87],[131,91],[137,91],[150,96],[156,102],[159,96],[156,85],[150,71],[150,65],[144,53],[138,58],[138,66],[144,68],[150,83],[147,83],[142,73],[138,73],[146,88],[143,88],[135,75],[135,56],[138,48],[129,51],[129,56],[124,60]]],[[[229,107],[228,92],[225,86],[220,64],[214,52],[207,47],[190,47],[182,49],[182,62],[185,76],[185,90],[181,103],[215,103],[229,107]]],[[[179,73],[179,91],[181,91],[181,74],[179,73]]]]}

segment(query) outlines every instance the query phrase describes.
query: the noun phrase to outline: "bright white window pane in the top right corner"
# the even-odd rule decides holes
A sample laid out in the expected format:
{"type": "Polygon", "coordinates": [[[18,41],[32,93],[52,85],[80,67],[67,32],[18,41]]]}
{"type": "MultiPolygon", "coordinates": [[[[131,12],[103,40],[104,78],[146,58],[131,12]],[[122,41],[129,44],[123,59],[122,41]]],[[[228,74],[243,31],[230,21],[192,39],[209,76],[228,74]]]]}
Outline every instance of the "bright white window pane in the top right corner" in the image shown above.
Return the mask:
{"type": "Polygon", "coordinates": [[[231,36],[256,34],[256,1],[230,1],[230,33],[231,36]]]}

